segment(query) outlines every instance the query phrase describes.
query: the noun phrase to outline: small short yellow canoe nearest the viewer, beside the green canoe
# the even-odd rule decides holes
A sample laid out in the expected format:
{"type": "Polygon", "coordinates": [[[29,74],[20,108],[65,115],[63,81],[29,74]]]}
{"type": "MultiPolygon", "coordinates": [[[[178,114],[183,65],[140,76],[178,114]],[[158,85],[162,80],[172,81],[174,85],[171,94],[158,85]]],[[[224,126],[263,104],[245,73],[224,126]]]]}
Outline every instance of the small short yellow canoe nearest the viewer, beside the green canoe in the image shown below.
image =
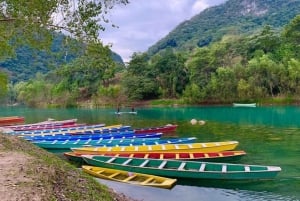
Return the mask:
{"type": "Polygon", "coordinates": [[[142,185],[142,186],[166,188],[166,189],[172,188],[177,181],[176,179],[159,177],[155,175],[141,174],[141,173],[95,167],[95,166],[87,166],[87,165],[83,165],[82,170],[90,175],[93,175],[101,179],[125,182],[128,184],[135,184],[135,185],[142,185]]]}

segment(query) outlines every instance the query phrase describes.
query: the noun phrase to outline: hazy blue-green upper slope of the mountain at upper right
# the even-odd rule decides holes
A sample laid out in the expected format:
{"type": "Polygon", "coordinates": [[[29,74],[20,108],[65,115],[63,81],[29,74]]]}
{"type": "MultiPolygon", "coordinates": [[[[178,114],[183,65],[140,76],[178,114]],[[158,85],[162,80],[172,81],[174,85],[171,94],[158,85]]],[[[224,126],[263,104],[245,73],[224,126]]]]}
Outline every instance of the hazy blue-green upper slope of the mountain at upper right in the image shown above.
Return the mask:
{"type": "Polygon", "coordinates": [[[228,0],[182,22],[149,48],[154,55],[166,48],[192,50],[226,34],[251,34],[264,25],[281,28],[300,13],[300,0],[228,0]]]}

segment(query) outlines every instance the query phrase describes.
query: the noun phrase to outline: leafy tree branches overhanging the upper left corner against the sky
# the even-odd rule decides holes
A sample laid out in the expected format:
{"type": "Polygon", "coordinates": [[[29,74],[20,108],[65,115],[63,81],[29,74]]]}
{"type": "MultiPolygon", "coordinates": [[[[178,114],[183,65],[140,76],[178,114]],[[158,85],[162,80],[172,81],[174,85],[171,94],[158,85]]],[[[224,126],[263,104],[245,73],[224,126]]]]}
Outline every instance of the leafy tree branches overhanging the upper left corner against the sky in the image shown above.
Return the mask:
{"type": "Polygon", "coordinates": [[[49,46],[52,33],[84,41],[98,38],[106,15],[116,4],[128,0],[0,0],[0,58],[14,46],[49,46]]]}

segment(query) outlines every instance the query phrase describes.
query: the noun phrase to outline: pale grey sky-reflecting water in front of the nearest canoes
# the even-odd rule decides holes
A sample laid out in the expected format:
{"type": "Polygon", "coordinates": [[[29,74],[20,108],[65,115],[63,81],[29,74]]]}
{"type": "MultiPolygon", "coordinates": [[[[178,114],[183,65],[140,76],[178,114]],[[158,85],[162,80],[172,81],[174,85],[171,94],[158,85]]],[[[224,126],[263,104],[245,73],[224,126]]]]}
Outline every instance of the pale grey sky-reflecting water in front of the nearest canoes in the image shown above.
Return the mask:
{"type": "MultiPolygon", "coordinates": [[[[297,201],[289,195],[279,195],[267,191],[255,192],[239,189],[224,189],[214,187],[196,187],[176,185],[173,189],[159,189],[154,187],[143,187],[123,184],[114,181],[97,179],[119,193],[143,201],[297,201]]],[[[202,183],[204,184],[204,183],[202,183]]]]}

